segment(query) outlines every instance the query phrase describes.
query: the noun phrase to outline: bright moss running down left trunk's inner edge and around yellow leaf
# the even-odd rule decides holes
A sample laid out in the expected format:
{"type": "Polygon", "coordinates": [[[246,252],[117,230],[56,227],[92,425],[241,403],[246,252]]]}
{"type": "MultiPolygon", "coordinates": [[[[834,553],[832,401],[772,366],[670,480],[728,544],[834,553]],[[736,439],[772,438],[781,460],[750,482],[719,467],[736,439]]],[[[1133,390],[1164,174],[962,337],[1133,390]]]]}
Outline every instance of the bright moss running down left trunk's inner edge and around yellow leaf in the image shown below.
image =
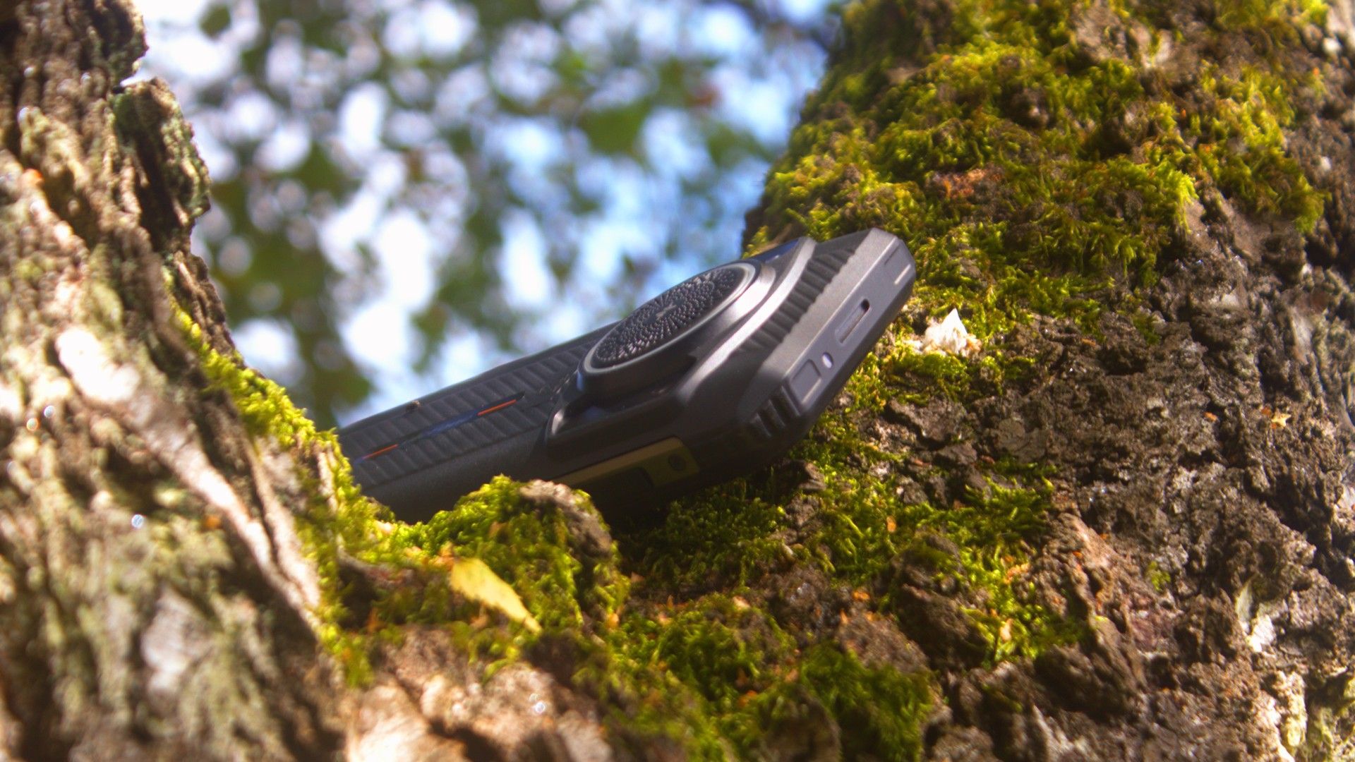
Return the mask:
{"type": "MultiPolygon", "coordinates": [[[[604,616],[619,606],[625,580],[614,571],[589,569],[591,580],[606,582],[589,584],[587,593],[576,598],[570,575],[579,572],[577,561],[562,545],[562,519],[557,515],[553,522],[541,522],[538,511],[530,521],[512,521],[527,517],[528,510],[516,492],[519,485],[505,480],[463,498],[457,514],[442,514],[467,517],[459,526],[449,521],[415,526],[394,521],[388,508],[362,495],[347,460],[339,456],[339,441],[332,430],[318,431],[304,411],[291,404],[282,386],[244,367],[238,357],[213,350],[182,309],[178,320],[198,351],[209,382],[230,396],[252,435],[274,441],[304,458],[324,461],[328,484],[317,483],[309,472],[299,475],[306,492],[314,498],[310,508],[298,517],[297,533],[316,564],[321,586],[317,637],[343,666],[351,683],[363,685],[370,679],[371,647],[382,639],[398,637],[398,625],[406,622],[443,624],[467,654],[486,662],[512,658],[531,641],[533,635],[520,624],[485,617],[480,603],[451,588],[447,572],[458,555],[488,556],[481,560],[519,594],[526,590],[524,603],[538,620],[556,625],[577,621],[575,602],[579,599],[589,601],[604,616]],[[531,537],[539,544],[528,542],[526,525],[533,522],[543,527],[531,537]],[[505,526],[508,532],[501,536],[505,526]],[[497,537],[518,544],[496,546],[497,537]],[[343,555],[394,580],[364,593],[374,599],[363,601],[369,611],[362,621],[354,621],[348,609],[355,590],[354,582],[344,578],[343,555]],[[537,572],[543,574],[543,579],[535,579],[537,572]]],[[[583,510],[591,507],[585,504],[583,510]]]]}

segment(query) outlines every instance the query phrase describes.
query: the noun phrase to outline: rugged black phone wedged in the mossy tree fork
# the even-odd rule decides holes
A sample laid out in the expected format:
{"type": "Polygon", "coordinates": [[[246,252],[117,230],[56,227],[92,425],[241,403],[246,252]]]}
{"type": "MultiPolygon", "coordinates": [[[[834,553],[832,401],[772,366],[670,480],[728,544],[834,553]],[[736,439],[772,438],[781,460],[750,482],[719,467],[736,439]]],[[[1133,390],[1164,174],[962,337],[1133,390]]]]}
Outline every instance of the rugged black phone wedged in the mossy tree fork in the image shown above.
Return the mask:
{"type": "Polygon", "coordinates": [[[912,292],[871,229],[694,275],[618,323],[339,430],[363,492],[404,521],[493,476],[587,491],[641,523],[799,441],[912,292]]]}

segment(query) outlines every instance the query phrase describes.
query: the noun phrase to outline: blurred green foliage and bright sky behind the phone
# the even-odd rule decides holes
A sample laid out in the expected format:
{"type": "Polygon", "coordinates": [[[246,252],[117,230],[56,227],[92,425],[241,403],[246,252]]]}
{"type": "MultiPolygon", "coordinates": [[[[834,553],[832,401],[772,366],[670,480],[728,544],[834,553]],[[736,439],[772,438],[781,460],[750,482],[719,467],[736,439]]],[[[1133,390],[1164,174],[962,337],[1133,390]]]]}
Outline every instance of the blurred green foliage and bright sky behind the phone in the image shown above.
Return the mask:
{"type": "Polygon", "coordinates": [[[538,350],[737,255],[828,5],[207,0],[149,73],[210,167],[195,245],[247,359],[332,424],[388,374],[455,380],[453,339],[538,350]]]}

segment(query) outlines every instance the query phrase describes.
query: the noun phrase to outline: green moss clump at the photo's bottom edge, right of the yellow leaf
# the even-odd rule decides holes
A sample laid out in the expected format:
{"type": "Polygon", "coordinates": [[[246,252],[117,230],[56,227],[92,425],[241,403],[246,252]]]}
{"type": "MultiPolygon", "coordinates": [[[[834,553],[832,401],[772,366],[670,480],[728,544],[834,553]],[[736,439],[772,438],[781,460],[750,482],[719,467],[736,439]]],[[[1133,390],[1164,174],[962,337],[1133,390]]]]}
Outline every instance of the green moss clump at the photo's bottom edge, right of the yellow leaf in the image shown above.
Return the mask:
{"type": "Polygon", "coordinates": [[[827,729],[817,706],[848,758],[915,759],[938,696],[925,673],[866,666],[829,644],[801,654],[772,617],[725,594],[627,617],[607,645],[577,679],[611,698],[611,721],[679,739],[698,758],[766,758],[770,729],[810,735],[790,729],[806,712],[827,729]]]}

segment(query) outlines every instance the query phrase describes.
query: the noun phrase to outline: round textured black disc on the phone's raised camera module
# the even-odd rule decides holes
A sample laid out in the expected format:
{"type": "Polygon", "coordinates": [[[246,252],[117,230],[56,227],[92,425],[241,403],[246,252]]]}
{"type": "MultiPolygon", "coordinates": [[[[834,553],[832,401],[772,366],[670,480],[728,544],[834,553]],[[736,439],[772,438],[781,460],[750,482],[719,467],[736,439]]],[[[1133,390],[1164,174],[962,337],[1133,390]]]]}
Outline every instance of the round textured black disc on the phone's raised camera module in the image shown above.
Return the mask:
{"type": "Polygon", "coordinates": [[[752,279],[743,263],[707,270],[640,305],[592,350],[595,369],[615,367],[659,348],[725,306],[752,279]]]}

